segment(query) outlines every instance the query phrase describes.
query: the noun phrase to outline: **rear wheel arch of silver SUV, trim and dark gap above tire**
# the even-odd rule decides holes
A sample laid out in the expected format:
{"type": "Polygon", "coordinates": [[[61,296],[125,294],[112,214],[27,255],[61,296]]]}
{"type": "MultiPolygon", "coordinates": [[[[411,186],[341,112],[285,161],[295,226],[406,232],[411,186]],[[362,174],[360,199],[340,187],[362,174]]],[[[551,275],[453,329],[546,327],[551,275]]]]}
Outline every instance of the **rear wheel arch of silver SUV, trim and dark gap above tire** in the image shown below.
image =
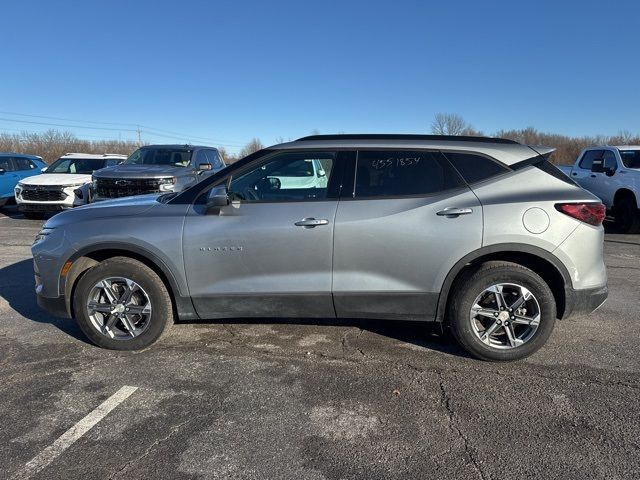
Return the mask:
{"type": "Polygon", "coordinates": [[[556,300],[558,318],[571,313],[573,308],[569,294],[569,290],[572,289],[571,276],[562,262],[542,248],[505,243],[482,247],[464,256],[453,266],[440,290],[435,318],[437,322],[445,321],[450,293],[456,280],[469,268],[489,261],[513,262],[534,271],[549,285],[556,300]]]}

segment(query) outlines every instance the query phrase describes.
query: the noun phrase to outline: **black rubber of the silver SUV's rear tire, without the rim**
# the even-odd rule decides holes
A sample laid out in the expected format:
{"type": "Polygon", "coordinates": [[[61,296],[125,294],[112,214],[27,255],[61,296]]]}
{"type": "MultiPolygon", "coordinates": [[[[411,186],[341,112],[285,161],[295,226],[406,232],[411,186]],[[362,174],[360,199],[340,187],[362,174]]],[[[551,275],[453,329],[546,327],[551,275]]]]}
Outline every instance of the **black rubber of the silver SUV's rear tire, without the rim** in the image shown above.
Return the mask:
{"type": "Polygon", "coordinates": [[[451,333],[471,355],[488,361],[512,361],[531,355],[546,343],[553,331],[557,310],[551,289],[535,272],[515,263],[487,262],[463,273],[456,281],[450,296],[448,314],[451,333]],[[512,283],[527,288],[540,307],[540,321],[535,333],[524,344],[510,349],[495,348],[484,343],[474,332],[470,319],[476,298],[485,289],[499,283],[512,283]]]}

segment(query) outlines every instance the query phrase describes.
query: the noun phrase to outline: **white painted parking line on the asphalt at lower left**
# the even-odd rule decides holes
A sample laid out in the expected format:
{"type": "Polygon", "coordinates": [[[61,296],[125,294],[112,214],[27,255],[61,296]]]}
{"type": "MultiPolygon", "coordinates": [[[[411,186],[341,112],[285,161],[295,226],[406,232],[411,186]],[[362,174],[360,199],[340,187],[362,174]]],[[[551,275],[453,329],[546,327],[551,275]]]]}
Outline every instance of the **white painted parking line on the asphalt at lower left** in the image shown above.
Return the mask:
{"type": "Polygon", "coordinates": [[[15,480],[24,480],[38,473],[60,456],[60,454],[69,448],[76,440],[82,437],[82,435],[91,430],[95,424],[106,417],[111,410],[124,402],[137,389],[138,387],[122,387],[98,405],[93,411],[89,412],[86,417],[60,435],[55,442],[36,455],[32,460],[29,460],[24,468],[13,478],[15,480]]]}

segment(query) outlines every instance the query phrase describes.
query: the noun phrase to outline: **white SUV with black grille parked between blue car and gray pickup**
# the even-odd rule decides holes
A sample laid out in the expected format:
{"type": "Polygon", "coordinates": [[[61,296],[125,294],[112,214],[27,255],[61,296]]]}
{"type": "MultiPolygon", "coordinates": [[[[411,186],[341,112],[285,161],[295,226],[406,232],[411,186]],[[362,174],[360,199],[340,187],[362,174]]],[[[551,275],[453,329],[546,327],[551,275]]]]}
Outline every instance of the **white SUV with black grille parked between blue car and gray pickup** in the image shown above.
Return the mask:
{"type": "Polygon", "coordinates": [[[126,159],[126,155],[109,153],[67,153],[47,167],[43,175],[18,182],[15,188],[18,209],[27,218],[42,218],[47,212],[85,205],[93,172],[126,159]]]}

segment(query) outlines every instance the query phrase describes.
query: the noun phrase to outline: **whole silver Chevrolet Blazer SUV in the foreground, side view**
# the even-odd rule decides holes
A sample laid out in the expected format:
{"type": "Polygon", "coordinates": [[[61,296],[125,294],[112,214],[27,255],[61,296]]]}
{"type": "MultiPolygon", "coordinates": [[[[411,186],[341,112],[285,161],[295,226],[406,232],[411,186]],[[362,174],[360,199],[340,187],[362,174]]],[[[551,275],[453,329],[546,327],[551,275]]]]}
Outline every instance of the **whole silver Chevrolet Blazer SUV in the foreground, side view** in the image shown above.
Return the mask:
{"type": "Polygon", "coordinates": [[[604,206],[551,151],[426,135],[276,145],[181,193],[56,215],[32,247],[38,302],[118,350],[176,319],[360,317],[439,322],[476,357],[519,359],[607,297],[604,206]]]}

